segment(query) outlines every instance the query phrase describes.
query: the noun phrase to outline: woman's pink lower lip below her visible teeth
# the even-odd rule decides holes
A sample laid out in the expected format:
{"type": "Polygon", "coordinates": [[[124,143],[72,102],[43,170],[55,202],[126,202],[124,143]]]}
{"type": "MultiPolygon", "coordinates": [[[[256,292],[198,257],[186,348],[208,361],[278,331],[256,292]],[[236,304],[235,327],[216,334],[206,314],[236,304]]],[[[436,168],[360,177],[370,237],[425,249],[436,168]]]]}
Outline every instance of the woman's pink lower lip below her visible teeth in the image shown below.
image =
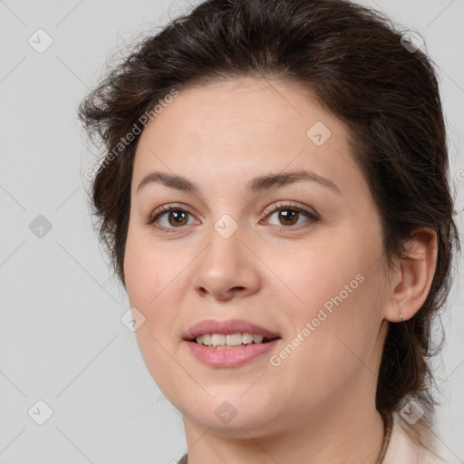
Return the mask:
{"type": "Polygon", "coordinates": [[[262,354],[268,353],[275,347],[280,339],[275,338],[267,343],[248,343],[239,348],[231,348],[226,350],[217,350],[216,348],[208,348],[203,344],[189,342],[190,352],[198,359],[213,367],[238,367],[262,354]]]}

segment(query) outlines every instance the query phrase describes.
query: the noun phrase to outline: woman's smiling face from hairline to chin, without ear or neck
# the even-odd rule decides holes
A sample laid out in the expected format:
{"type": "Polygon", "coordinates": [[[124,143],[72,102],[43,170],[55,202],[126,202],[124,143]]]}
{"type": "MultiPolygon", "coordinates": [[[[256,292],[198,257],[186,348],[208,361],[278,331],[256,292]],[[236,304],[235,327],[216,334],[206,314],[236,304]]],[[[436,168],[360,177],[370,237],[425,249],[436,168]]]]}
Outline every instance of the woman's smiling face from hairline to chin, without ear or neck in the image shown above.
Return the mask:
{"type": "MultiPolygon", "coordinates": [[[[301,88],[252,78],[191,88],[140,135],[126,288],[145,318],[144,362],[189,426],[258,436],[374,401],[381,265],[380,216],[343,123],[301,88]],[[188,182],[140,186],[150,173],[188,182]],[[277,338],[229,337],[246,343],[227,350],[186,340],[207,319],[277,338]]],[[[199,330],[248,332],[216,329],[199,330]]]]}

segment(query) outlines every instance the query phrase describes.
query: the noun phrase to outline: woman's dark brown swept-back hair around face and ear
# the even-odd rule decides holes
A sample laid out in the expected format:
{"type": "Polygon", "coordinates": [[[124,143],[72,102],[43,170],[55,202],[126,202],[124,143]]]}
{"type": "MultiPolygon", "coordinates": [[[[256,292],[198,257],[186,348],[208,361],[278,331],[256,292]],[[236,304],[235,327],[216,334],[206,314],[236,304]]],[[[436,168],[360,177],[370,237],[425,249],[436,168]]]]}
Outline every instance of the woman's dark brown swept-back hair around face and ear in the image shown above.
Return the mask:
{"type": "Polygon", "coordinates": [[[414,398],[431,417],[430,327],[460,246],[436,74],[424,52],[410,50],[389,18],[347,0],[208,0],[137,43],[79,109],[91,139],[104,147],[92,210],[122,285],[139,136],[117,156],[114,149],[140,116],[173,88],[241,76],[295,82],[348,128],[382,218],[387,269],[394,256],[407,256],[403,240],[416,228],[437,231],[430,293],[410,320],[390,324],[376,393],[382,414],[414,398]]]}

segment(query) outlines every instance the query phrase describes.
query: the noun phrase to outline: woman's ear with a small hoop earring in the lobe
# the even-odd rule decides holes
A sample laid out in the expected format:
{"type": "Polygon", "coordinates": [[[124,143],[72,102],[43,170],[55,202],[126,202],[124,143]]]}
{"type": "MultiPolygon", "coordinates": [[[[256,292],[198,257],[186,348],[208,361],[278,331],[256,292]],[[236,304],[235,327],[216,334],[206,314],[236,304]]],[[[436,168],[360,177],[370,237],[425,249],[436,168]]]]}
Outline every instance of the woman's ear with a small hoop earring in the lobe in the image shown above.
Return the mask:
{"type": "Polygon", "coordinates": [[[438,256],[437,232],[430,227],[416,229],[405,243],[407,259],[402,259],[391,273],[390,304],[384,317],[394,323],[407,321],[416,314],[427,295],[435,275],[438,256]]]}

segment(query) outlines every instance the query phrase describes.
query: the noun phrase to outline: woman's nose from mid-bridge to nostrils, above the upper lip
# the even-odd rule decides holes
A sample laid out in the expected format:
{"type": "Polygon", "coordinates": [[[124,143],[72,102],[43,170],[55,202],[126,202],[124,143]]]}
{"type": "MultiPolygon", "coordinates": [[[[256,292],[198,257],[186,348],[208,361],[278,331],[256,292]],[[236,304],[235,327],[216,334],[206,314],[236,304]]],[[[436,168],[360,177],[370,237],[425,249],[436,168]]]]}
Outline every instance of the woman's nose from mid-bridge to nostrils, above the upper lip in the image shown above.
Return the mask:
{"type": "Polygon", "coordinates": [[[259,261],[245,243],[245,234],[240,227],[230,237],[218,230],[211,227],[208,246],[195,260],[195,291],[221,301],[255,294],[260,285],[259,261]]]}

